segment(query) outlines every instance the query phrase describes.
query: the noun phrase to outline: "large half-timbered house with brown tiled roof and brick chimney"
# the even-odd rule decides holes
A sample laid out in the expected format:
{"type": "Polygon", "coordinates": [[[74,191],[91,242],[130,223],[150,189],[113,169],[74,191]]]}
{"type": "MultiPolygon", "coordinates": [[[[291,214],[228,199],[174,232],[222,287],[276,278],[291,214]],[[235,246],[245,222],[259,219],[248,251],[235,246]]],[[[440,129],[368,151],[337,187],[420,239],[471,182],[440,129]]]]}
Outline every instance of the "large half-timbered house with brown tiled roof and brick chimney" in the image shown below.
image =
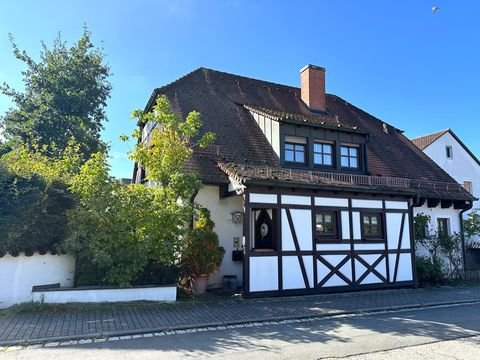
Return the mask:
{"type": "Polygon", "coordinates": [[[226,275],[249,297],[415,286],[413,217],[459,227],[472,196],[401,130],[326,94],[324,68],[304,67],[300,82],[199,68],[145,107],[166,95],[217,134],[187,164],[226,250],[211,286],[226,275]]]}

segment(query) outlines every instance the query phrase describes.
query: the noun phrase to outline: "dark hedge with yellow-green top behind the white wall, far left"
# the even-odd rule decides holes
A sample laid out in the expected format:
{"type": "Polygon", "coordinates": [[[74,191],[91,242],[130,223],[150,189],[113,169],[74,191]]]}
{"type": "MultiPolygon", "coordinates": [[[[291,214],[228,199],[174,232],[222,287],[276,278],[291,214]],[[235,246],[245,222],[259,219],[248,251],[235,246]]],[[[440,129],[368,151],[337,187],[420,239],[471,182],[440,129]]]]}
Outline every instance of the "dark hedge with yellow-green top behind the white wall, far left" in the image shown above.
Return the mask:
{"type": "Polygon", "coordinates": [[[19,146],[0,158],[0,252],[58,251],[73,195],[66,179],[78,169],[78,146],[59,158],[48,147],[19,146]]]}

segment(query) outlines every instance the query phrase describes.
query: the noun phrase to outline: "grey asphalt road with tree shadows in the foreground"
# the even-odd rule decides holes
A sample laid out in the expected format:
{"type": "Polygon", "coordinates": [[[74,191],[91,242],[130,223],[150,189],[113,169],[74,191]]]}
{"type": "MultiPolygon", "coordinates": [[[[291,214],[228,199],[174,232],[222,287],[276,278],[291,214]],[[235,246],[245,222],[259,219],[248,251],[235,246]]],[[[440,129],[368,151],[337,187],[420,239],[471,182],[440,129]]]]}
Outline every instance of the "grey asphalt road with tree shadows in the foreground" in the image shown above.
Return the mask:
{"type": "Polygon", "coordinates": [[[480,304],[40,349],[20,359],[478,359],[480,304]],[[395,350],[397,349],[397,350],[395,350]]]}

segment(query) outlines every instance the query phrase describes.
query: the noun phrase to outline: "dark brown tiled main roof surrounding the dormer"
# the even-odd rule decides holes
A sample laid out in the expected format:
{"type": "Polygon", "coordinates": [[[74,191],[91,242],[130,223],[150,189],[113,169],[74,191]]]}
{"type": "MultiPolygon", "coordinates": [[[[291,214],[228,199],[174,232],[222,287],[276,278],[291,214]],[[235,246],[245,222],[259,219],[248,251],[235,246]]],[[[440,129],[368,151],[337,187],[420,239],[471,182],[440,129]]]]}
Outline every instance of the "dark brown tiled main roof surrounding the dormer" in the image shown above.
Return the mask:
{"type": "MultiPolygon", "coordinates": [[[[280,168],[277,154],[250,113],[253,110],[281,121],[294,120],[326,127],[340,124],[342,129],[368,133],[367,160],[372,176],[456,184],[402,131],[336,95],[326,95],[327,115],[316,114],[301,100],[297,87],[207,68],[196,69],[155,89],[146,111],[161,94],[168,97],[172,109],[183,118],[190,111],[200,112],[204,131],[217,135],[215,145],[219,151],[215,154],[198,151],[187,164],[187,168],[197,172],[205,183],[228,183],[228,176],[219,169],[219,163],[280,168]]],[[[430,195],[456,200],[472,199],[465,191],[431,192],[430,195]]]]}

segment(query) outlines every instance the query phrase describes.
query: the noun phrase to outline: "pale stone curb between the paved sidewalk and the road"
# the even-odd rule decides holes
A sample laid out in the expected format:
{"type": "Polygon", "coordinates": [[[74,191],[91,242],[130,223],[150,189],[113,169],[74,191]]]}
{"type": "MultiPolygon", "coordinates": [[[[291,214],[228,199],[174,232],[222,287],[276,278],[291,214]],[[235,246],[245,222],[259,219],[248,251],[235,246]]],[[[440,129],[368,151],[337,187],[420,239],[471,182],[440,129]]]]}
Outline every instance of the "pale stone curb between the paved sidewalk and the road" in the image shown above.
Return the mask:
{"type": "Polygon", "coordinates": [[[237,327],[252,327],[252,326],[266,326],[275,325],[282,322],[302,322],[313,321],[320,319],[330,319],[335,317],[353,316],[353,315],[367,315],[375,313],[386,313],[395,311],[408,311],[418,310],[424,308],[446,307],[446,306],[461,306],[470,304],[480,304],[480,300],[460,300],[455,302],[430,302],[430,303],[418,303],[409,305],[396,305],[387,307],[365,308],[349,311],[330,311],[324,314],[302,314],[302,315],[286,315],[275,316],[271,318],[246,318],[241,320],[228,320],[223,322],[206,322],[188,325],[178,326],[163,326],[156,328],[143,328],[143,329],[131,329],[120,331],[107,331],[102,333],[88,333],[79,335],[66,335],[57,337],[37,338],[37,339],[23,339],[12,341],[0,341],[0,352],[8,350],[10,347],[24,348],[27,346],[34,347],[54,347],[62,345],[75,345],[75,344],[87,344],[94,342],[127,340],[133,338],[142,337],[154,337],[163,335],[184,334],[189,332],[188,330],[197,331],[215,331],[224,330],[228,328],[237,327]],[[149,336],[145,336],[149,335],[149,336]],[[122,337],[124,339],[122,339],[122,337]],[[63,343],[63,344],[62,344],[63,343]]]}

